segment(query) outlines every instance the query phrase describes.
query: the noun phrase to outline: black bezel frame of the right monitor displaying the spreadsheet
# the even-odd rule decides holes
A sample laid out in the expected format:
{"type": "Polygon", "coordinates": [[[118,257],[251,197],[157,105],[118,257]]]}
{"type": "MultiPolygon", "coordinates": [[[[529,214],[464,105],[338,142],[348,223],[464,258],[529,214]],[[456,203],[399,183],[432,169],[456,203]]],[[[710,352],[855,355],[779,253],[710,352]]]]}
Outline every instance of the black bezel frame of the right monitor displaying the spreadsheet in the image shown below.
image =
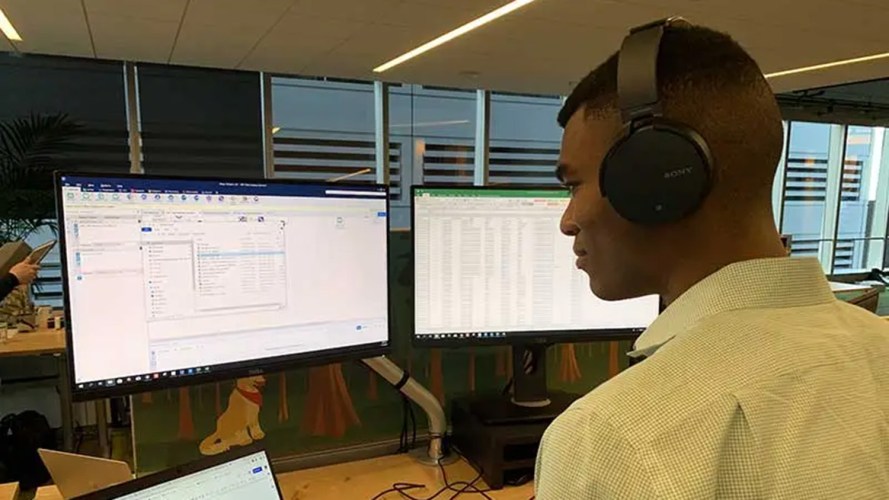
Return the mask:
{"type": "MultiPolygon", "coordinates": [[[[411,272],[414,279],[411,279],[411,313],[413,318],[411,324],[411,344],[421,348],[436,347],[475,347],[475,346],[503,346],[503,345],[535,345],[535,344],[556,344],[556,343],[573,343],[573,342],[596,342],[596,341],[622,341],[635,340],[646,330],[646,327],[639,328],[603,328],[597,330],[534,330],[534,331],[516,331],[507,332],[503,337],[492,338],[447,338],[435,339],[425,338],[432,335],[417,334],[417,314],[416,314],[416,261],[414,253],[416,249],[416,218],[417,218],[417,191],[444,191],[444,190],[472,190],[472,191],[561,191],[565,188],[553,186],[473,186],[466,184],[435,184],[432,186],[413,185],[411,186],[411,272]]],[[[592,293],[592,292],[590,292],[592,293]]],[[[658,312],[661,307],[659,305],[658,312]]],[[[476,334],[483,332],[449,332],[443,335],[462,335],[476,334]]]]}

